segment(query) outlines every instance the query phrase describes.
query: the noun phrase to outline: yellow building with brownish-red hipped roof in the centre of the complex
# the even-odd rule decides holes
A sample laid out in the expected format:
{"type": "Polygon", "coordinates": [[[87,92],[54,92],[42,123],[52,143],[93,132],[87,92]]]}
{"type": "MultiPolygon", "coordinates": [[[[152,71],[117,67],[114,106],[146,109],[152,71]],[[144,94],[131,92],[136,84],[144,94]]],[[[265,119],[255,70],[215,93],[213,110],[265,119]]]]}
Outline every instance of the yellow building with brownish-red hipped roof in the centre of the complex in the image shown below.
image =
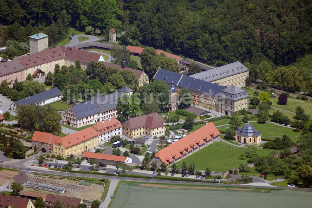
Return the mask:
{"type": "Polygon", "coordinates": [[[156,112],[130,118],[122,124],[122,134],[130,138],[140,136],[160,137],[165,134],[165,120],[156,112]]]}

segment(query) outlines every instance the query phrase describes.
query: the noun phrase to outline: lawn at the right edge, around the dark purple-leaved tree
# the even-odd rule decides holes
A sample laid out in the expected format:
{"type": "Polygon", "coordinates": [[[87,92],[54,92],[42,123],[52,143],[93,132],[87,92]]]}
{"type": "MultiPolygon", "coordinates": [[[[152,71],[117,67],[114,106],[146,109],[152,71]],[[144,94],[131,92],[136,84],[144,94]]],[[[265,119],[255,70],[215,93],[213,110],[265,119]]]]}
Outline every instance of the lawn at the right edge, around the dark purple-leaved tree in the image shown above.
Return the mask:
{"type": "Polygon", "coordinates": [[[312,117],[312,102],[311,101],[299,100],[293,97],[288,97],[287,104],[285,106],[277,104],[278,97],[272,98],[271,101],[272,101],[273,107],[277,107],[277,108],[284,109],[284,110],[291,111],[291,112],[295,112],[296,107],[301,106],[305,110],[305,113],[308,116],[312,117]]]}

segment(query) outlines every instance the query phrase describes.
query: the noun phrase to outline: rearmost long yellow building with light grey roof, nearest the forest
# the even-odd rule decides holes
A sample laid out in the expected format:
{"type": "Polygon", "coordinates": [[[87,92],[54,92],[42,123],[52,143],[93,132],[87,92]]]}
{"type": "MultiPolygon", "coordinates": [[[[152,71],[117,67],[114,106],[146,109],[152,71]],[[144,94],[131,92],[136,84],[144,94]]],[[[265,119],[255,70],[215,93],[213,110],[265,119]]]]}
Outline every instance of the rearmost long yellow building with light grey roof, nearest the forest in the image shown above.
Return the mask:
{"type": "Polygon", "coordinates": [[[232,85],[244,87],[248,76],[249,69],[239,61],[190,75],[193,78],[227,87],[232,85]]]}

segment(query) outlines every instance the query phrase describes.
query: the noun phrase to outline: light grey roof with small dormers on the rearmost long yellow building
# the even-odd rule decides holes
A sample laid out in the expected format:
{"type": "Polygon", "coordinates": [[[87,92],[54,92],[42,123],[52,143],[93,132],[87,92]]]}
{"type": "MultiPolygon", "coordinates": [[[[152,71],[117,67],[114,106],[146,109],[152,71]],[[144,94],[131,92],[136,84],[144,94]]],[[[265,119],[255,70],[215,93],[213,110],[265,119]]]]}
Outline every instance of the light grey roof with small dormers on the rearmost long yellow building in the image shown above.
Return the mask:
{"type": "Polygon", "coordinates": [[[205,81],[212,82],[214,80],[228,77],[237,73],[242,73],[249,71],[249,69],[241,64],[241,62],[236,61],[231,64],[226,64],[214,69],[210,69],[204,72],[196,73],[191,75],[190,77],[195,77],[197,79],[204,79],[205,81]]]}

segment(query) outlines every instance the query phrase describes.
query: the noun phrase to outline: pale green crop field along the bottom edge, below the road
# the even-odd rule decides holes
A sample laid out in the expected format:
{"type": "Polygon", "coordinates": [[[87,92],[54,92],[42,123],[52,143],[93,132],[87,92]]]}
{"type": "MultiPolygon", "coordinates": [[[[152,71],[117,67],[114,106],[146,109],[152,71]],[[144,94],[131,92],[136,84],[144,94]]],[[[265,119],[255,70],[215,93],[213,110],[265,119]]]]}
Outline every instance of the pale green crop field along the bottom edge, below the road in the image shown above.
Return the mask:
{"type": "Polygon", "coordinates": [[[309,191],[121,182],[109,207],[292,208],[310,207],[311,198],[309,191]]]}

